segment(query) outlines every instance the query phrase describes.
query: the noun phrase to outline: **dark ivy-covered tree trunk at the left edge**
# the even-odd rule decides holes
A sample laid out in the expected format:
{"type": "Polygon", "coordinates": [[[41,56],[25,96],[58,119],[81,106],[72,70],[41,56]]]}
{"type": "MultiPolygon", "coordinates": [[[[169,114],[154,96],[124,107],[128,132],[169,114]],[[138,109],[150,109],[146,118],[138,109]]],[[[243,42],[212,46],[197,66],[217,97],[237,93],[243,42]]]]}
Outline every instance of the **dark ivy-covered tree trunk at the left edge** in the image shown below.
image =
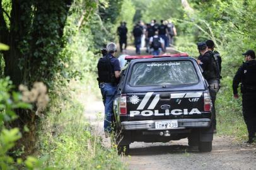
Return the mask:
{"type": "MultiPolygon", "coordinates": [[[[8,30],[0,0],[0,42],[10,47],[3,52],[4,75],[10,77],[16,89],[20,84],[31,87],[35,81],[51,81],[71,3],[72,0],[13,0],[8,30]]],[[[33,153],[37,116],[31,110],[16,110],[16,114],[19,118],[10,126],[23,130],[27,125],[30,129],[22,132],[23,138],[16,145],[16,149],[25,146],[26,156],[33,153]]]]}

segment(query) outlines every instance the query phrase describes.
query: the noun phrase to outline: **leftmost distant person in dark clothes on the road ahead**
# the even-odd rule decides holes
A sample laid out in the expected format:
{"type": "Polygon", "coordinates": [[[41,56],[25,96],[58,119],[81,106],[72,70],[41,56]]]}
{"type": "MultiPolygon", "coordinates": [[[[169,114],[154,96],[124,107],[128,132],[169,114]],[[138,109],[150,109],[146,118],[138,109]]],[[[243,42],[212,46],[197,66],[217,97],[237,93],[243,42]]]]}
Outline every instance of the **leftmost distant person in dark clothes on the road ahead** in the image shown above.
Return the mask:
{"type": "Polygon", "coordinates": [[[127,47],[127,32],[128,29],[126,27],[126,23],[121,22],[120,26],[117,28],[117,35],[119,35],[120,52],[123,51],[123,45],[124,49],[126,49],[127,47]]]}

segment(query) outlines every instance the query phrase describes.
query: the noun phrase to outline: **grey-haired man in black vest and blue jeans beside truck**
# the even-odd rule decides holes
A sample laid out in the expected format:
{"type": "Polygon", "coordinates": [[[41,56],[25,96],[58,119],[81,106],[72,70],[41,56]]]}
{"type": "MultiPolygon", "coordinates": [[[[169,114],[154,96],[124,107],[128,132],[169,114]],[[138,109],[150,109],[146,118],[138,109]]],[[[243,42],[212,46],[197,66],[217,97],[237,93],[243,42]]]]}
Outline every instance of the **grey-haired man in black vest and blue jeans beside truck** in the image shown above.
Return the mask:
{"type": "Polygon", "coordinates": [[[98,82],[105,106],[104,131],[106,134],[111,132],[113,97],[120,77],[120,64],[119,60],[114,57],[115,52],[117,52],[117,45],[112,42],[108,43],[107,55],[101,57],[97,65],[98,82]]]}

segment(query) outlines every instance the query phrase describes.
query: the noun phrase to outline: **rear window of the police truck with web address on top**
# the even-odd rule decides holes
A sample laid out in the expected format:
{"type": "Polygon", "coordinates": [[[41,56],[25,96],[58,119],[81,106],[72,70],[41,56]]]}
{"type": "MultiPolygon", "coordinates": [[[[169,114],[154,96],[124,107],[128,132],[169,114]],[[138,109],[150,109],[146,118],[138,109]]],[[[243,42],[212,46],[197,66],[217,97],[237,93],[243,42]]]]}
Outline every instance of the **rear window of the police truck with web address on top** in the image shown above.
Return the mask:
{"type": "Polygon", "coordinates": [[[161,86],[196,84],[199,82],[192,62],[139,62],[134,64],[129,84],[131,86],[161,86]]]}

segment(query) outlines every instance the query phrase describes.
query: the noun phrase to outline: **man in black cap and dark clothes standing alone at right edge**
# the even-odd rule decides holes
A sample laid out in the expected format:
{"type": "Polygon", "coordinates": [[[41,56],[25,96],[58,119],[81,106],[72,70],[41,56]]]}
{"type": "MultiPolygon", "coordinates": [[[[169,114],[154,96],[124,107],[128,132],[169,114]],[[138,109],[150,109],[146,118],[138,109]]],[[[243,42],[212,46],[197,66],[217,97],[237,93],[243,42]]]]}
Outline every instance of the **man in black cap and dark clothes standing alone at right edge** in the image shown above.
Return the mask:
{"type": "Polygon", "coordinates": [[[238,98],[238,85],[241,82],[243,118],[248,130],[248,144],[255,142],[256,132],[256,61],[255,52],[247,50],[243,53],[245,63],[236,72],[233,79],[234,98],[238,98]]]}

